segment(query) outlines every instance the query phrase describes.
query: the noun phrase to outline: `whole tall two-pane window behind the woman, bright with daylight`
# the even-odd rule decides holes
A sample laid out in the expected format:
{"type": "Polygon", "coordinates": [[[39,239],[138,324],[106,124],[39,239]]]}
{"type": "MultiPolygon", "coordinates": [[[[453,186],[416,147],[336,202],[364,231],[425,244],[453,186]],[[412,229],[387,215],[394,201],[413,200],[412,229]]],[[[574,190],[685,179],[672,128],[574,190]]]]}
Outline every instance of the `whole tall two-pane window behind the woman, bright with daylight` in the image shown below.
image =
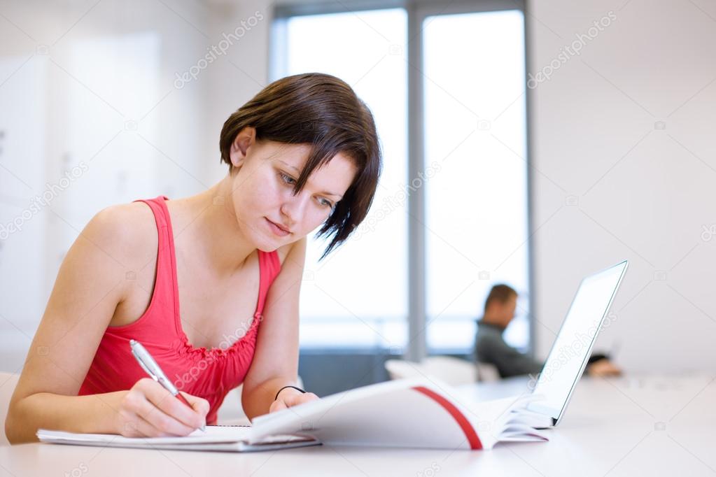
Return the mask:
{"type": "Polygon", "coordinates": [[[271,79],[300,72],[344,79],[371,108],[384,152],[379,190],[357,235],[324,262],[317,260],[325,244],[309,240],[301,347],[469,352],[489,288],[507,282],[521,300],[506,339],[526,348],[523,11],[513,2],[494,11],[437,1],[352,5],[279,7],[272,33],[271,79]],[[409,91],[418,98],[411,104],[409,91]],[[411,210],[410,200],[421,206],[411,210]],[[410,221],[420,227],[409,229],[410,221]],[[408,280],[407,260],[420,243],[425,266],[414,273],[424,296],[408,280]],[[424,303],[417,318],[409,319],[408,303],[424,303]]]}

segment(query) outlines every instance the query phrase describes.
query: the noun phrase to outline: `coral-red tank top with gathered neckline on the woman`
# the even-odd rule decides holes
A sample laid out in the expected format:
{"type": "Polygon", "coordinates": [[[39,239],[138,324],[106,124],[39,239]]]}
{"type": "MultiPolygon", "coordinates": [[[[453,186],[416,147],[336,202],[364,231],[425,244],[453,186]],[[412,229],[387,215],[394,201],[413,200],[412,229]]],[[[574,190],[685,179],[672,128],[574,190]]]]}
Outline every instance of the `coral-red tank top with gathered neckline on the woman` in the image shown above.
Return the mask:
{"type": "Polygon", "coordinates": [[[164,200],[168,198],[163,195],[141,200],[154,212],[159,234],[157,277],[149,307],[129,325],[107,327],[78,394],[127,390],[137,380],[146,378],[147,374],[132,356],[130,340],[133,339],[147,348],[179,390],[209,401],[211,410],[206,422],[213,424],[226,394],[246,377],[256,348],[266,294],[276,275],[279,275],[281,263],[275,250],[258,250],[258,303],[246,333],[243,329],[236,330],[232,335],[225,336],[218,348],[194,348],[181,327],[174,237],[164,200]]]}

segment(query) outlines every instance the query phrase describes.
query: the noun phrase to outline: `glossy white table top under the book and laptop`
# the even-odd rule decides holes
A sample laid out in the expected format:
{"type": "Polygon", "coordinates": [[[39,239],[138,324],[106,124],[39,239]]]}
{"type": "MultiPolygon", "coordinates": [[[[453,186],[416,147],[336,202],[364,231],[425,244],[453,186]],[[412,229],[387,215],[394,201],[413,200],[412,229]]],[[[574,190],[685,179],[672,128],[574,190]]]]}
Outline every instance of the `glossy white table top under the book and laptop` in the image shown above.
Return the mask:
{"type": "MultiPolygon", "coordinates": [[[[524,380],[465,389],[520,393],[524,380]]],[[[0,476],[716,476],[716,380],[704,374],[583,378],[547,443],[491,451],[319,446],[197,453],[26,444],[0,448],[0,476]]]]}

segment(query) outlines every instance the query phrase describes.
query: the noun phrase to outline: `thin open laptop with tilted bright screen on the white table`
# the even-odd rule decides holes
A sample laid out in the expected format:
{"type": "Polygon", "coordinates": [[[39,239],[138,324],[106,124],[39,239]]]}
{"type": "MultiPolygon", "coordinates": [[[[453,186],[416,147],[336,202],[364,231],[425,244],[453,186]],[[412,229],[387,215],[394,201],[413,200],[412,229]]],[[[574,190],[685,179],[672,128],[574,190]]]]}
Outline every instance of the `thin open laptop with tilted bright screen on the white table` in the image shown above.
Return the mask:
{"type": "Polygon", "coordinates": [[[572,300],[533,390],[543,398],[528,405],[528,409],[549,416],[552,426],[561,421],[584,373],[627,265],[629,262],[624,260],[584,278],[572,300]]]}

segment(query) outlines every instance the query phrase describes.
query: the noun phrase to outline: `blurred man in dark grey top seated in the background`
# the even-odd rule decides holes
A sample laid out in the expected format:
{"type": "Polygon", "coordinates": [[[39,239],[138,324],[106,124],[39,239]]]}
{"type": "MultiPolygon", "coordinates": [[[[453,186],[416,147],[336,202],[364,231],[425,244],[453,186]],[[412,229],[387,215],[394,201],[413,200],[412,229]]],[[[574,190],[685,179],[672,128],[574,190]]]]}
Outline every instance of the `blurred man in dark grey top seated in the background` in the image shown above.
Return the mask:
{"type": "MultiPolygon", "coordinates": [[[[502,338],[502,333],[515,316],[517,292],[508,285],[495,285],[485,300],[485,314],[478,320],[475,338],[475,358],[479,363],[495,365],[500,378],[541,372],[543,362],[520,353],[502,338]]],[[[588,375],[615,376],[621,374],[606,355],[591,355],[586,367],[588,375]]]]}

